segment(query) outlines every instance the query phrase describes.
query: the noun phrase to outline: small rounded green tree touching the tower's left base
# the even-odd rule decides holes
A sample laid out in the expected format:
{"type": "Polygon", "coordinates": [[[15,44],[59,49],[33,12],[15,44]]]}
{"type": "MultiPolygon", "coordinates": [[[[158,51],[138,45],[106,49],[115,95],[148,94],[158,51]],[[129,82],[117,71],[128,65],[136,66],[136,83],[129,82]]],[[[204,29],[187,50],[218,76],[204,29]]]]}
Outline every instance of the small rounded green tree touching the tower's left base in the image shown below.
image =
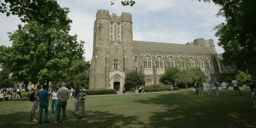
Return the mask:
{"type": "Polygon", "coordinates": [[[84,85],[85,89],[89,89],[89,75],[86,72],[75,75],[73,79],[75,86],[84,85]]]}

